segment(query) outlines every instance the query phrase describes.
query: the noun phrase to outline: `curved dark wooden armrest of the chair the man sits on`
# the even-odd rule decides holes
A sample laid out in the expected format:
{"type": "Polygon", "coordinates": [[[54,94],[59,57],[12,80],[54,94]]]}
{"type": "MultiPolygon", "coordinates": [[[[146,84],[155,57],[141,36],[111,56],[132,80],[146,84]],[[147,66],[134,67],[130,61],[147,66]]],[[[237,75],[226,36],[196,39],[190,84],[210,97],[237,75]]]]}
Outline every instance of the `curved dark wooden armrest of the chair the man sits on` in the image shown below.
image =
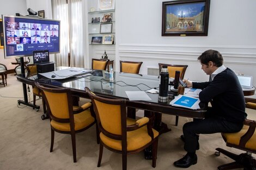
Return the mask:
{"type": "Polygon", "coordinates": [[[252,137],[252,135],[254,134],[255,131],[255,127],[256,127],[256,121],[252,121],[249,119],[245,119],[245,121],[243,122],[243,124],[248,125],[249,129],[247,130],[247,132],[245,133],[245,135],[243,135],[240,138],[239,141],[239,146],[241,147],[245,147],[246,143],[248,142],[248,140],[252,137]]]}

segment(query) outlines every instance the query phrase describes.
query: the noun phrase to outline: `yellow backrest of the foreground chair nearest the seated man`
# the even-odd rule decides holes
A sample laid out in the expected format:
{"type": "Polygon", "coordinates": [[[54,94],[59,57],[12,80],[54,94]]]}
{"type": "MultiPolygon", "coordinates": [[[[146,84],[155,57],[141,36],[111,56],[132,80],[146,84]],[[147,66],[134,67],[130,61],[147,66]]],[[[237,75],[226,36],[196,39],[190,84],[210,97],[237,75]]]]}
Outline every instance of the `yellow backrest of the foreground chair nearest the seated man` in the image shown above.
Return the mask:
{"type": "Polygon", "coordinates": [[[86,87],[92,100],[97,124],[100,131],[115,140],[126,138],[126,104],[125,99],[108,99],[96,96],[86,87]]]}

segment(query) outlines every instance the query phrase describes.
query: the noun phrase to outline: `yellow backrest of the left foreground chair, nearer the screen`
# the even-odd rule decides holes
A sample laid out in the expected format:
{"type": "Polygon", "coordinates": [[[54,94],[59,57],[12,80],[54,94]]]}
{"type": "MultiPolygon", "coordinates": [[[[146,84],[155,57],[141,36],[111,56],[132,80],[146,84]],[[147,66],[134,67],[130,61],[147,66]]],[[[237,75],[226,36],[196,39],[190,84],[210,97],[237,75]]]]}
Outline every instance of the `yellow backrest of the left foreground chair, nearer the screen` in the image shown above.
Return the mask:
{"type": "Polygon", "coordinates": [[[72,113],[72,96],[69,88],[49,88],[35,83],[42,92],[50,120],[60,123],[71,123],[74,125],[72,113]]]}

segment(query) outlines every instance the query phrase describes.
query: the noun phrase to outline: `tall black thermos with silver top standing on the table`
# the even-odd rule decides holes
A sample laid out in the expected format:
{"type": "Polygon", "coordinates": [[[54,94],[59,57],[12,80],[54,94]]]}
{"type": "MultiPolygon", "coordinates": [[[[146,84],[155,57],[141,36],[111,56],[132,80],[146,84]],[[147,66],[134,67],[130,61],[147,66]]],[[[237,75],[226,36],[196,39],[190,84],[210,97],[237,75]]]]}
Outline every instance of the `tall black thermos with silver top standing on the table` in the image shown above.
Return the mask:
{"type": "Polygon", "coordinates": [[[167,66],[162,66],[159,80],[159,102],[167,102],[169,86],[169,72],[167,66]]]}

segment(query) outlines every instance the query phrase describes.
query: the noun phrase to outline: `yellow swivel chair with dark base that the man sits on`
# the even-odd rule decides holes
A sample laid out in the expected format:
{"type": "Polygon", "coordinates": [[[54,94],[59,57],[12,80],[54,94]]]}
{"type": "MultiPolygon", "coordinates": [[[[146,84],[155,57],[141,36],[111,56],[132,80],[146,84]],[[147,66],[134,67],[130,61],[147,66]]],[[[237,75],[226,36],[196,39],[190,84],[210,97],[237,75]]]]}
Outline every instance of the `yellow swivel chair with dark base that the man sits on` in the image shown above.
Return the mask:
{"type": "MultiPolygon", "coordinates": [[[[247,103],[246,107],[256,110],[256,103],[247,103]]],[[[242,130],[240,130],[238,133],[221,134],[228,147],[244,150],[246,151],[246,153],[236,155],[222,148],[216,148],[218,152],[216,152],[215,154],[217,156],[220,155],[220,153],[223,153],[229,158],[235,160],[235,162],[218,166],[218,169],[256,169],[256,160],[252,156],[252,153],[256,154],[255,127],[256,121],[246,119],[245,122],[243,122],[242,130]]]]}

